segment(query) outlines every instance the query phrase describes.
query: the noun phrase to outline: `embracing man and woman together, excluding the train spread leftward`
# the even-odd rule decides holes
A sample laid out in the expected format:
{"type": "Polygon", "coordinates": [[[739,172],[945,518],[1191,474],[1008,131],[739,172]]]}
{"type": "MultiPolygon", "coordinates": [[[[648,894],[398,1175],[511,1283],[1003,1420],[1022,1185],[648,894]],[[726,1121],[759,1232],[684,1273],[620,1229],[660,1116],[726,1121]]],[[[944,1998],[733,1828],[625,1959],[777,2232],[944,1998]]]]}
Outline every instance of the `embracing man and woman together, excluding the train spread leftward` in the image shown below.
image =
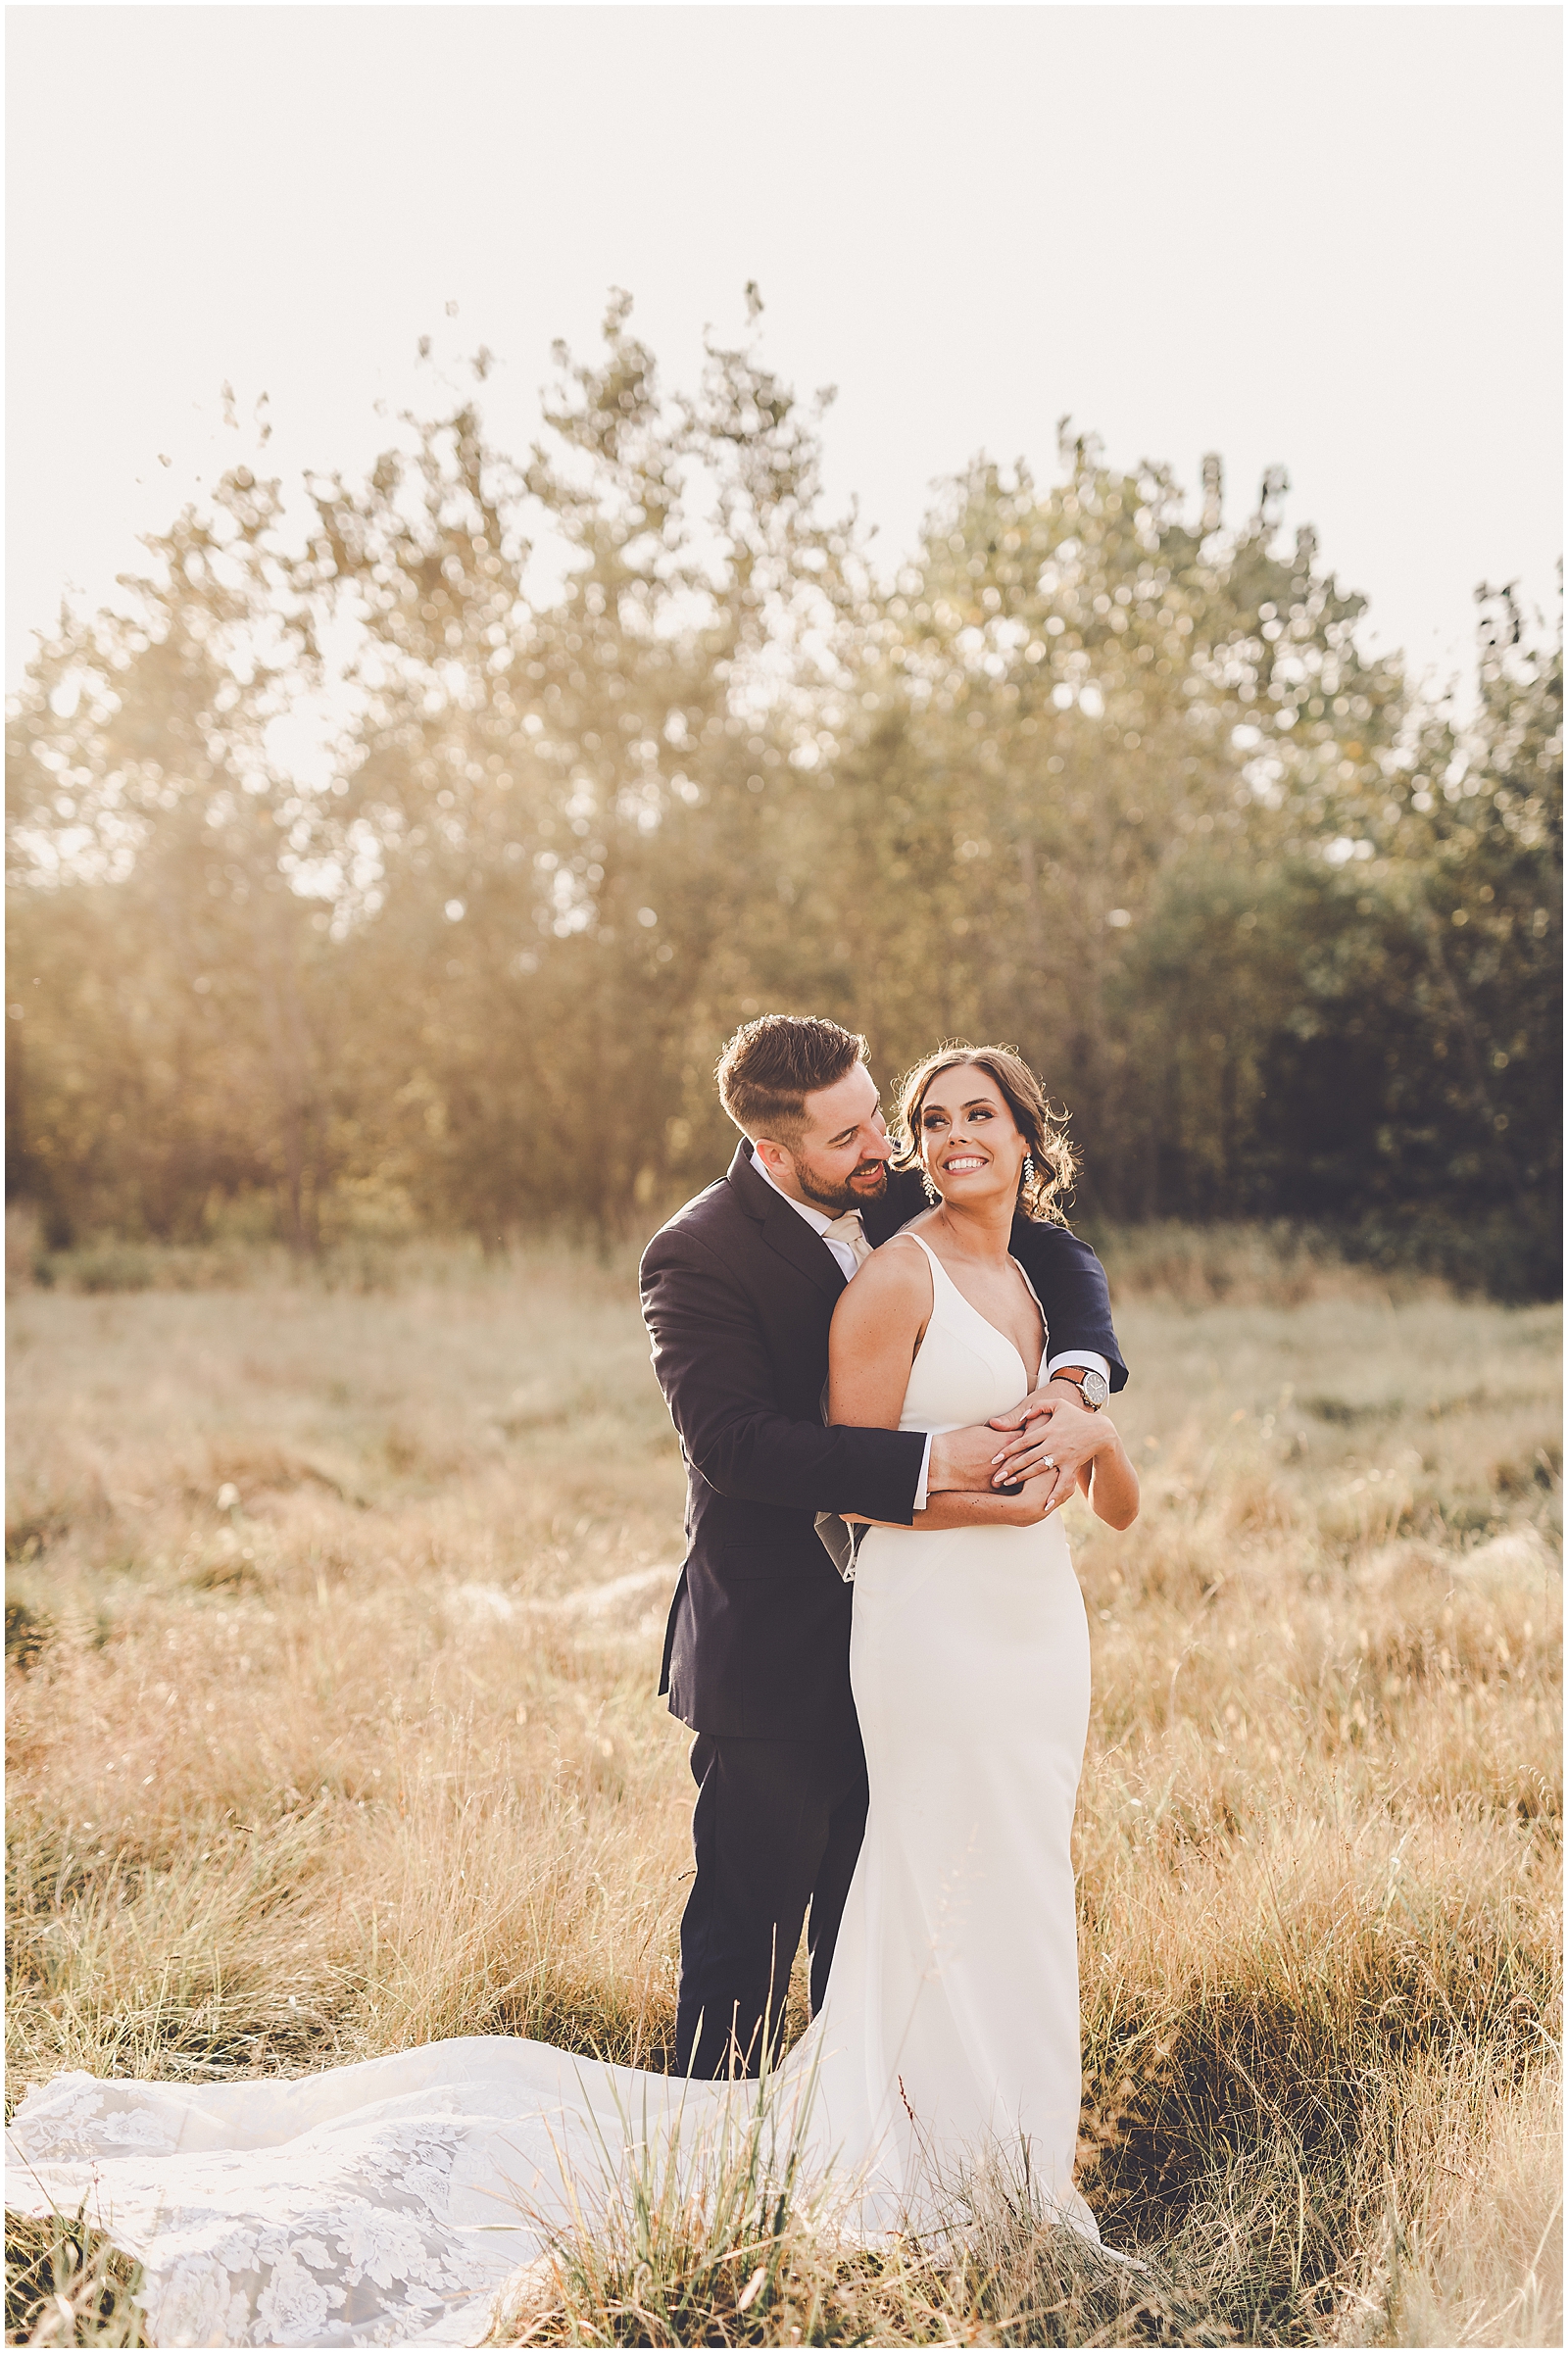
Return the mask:
{"type": "Polygon", "coordinates": [[[1057,1511],[1137,1515],[1102,1412],[1128,1374],[1099,1261],[1052,1217],[1071,1158],[1034,1073],[932,1054],[895,1158],[864,1054],[833,1021],[739,1028],[742,1146],[643,1259],[690,1480],[662,1685],[697,1734],[678,2064],[777,2057],[805,1925],[819,2132],[876,2212],[1001,2141],[1092,2231],[1088,1626],[1057,1511]]]}

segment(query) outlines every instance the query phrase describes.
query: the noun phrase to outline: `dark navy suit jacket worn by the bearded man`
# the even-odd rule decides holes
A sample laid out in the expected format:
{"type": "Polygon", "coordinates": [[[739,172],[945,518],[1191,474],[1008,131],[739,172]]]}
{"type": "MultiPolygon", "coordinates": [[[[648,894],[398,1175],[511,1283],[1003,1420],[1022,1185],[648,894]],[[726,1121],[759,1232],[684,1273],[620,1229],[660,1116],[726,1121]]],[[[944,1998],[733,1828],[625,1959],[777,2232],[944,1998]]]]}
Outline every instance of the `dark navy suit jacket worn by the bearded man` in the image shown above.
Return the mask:
{"type": "MultiPolygon", "coordinates": [[[[862,1212],[866,1240],[885,1242],[921,1209],[918,1174],[890,1169],[888,1195],[862,1212]]],[[[1038,1292],[1050,1353],[1092,1348],[1123,1388],[1111,1297],[1088,1242],[1019,1217],[1010,1247],[1038,1292]]],[[[824,1426],[843,1285],[826,1242],[756,1172],[746,1144],[643,1254],[643,1318],[687,1471],[687,1551],[659,1689],[695,1732],[808,1739],[852,1722],[852,1586],[817,1537],[817,1513],[911,1522],[925,1438],[824,1426]]]]}

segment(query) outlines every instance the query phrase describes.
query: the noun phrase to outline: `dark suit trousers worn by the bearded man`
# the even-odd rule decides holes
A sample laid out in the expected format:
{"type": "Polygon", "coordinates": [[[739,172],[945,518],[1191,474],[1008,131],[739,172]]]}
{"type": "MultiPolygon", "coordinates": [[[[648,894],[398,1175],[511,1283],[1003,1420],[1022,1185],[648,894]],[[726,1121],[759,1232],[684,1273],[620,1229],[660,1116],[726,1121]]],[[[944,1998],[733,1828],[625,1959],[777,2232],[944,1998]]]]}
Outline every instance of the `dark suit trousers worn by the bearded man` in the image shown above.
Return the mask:
{"type": "Polygon", "coordinates": [[[772,2057],[810,1906],[812,2012],[866,1828],[866,1753],[850,1722],[805,1741],[692,1741],[697,1882],[680,1920],[676,2066],[756,2075],[772,2057]],[[763,2024],[765,2021],[765,2024],[763,2024]]]}

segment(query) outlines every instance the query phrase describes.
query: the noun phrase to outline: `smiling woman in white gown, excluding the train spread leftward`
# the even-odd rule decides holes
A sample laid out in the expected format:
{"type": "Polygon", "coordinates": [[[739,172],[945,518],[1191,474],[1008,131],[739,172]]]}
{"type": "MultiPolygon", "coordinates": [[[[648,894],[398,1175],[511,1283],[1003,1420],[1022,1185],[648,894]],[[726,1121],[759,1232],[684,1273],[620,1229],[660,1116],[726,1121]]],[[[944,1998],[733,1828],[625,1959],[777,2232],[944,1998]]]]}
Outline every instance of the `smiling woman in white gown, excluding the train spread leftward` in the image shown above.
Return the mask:
{"type": "MultiPolygon", "coordinates": [[[[911,1073],[899,1120],[937,1207],[838,1301],[831,1419],[958,1428],[1034,1388],[1045,1353],[1008,1254],[1019,1195],[1026,1209],[1045,1198],[1045,1101],[1015,1054],[961,1049],[911,1073]]],[[[1130,1527],[1137,1475],[1097,1424],[1081,1482],[1102,1520],[1130,1527]]],[[[850,1682],[871,1812],[815,2028],[824,2104],[838,2092],[829,2054],[855,2052],[888,2219],[899,2200],[918,2212],[930,2153],[951,2162],[1001,2141],[1026,2144],[1059,2217],[1097,2235],[1074,2191],[1083,1595],[1055,1513],[977,1527],[972,1499],[937,1497],[930,1518],[921,1537],[869,1529],[857,1558],[850,1682]],[[961,1522],[946,1532],[944,1508],[961,1522]]]]}

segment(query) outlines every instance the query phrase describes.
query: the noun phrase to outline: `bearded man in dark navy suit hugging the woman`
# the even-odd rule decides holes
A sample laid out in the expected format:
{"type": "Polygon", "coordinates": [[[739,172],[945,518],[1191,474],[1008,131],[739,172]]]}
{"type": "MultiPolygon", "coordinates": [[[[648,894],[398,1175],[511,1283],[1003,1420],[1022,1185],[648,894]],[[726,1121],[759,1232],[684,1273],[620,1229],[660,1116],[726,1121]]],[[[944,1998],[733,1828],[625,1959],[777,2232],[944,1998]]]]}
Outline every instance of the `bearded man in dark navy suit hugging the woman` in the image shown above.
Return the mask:
{"type": "Polygon", "coordinates": [[[746,1021],[718,1059],[739,1151],[643,1257],[643,1315],[690,1489],[659,1680],[697,1734],[697,1878],[676,2007],[678,2066],[690,2075],[756,2073],[777,2057],[808,1908],[812,2009],[822,2007],[859,1854],[866,1760],[850,1697],[852,1586],[817,1534],[817,1513],[918,1527],[930,1494],[1003,1478],[1034,1480],[1043,1513],[1074,1485],[1071,1431],[1088,1426],[1071,1412],[1078,1379],[1085,1369],[1111,1388],[1128,1379],[1099,1259],[1064,1226],[1019,1217],[1012,1252],[1045,1311],[1048,1388],[996,1428],[928,1438],[824,1426],[833,1301],[925,1207],[921,1179],[888,1167],[892,1144],[864,1056],[866,1040],[836,1021],[746,1021]],[[1010,1457],[1001,1468],[998,1449],[1010,1457]]]}

